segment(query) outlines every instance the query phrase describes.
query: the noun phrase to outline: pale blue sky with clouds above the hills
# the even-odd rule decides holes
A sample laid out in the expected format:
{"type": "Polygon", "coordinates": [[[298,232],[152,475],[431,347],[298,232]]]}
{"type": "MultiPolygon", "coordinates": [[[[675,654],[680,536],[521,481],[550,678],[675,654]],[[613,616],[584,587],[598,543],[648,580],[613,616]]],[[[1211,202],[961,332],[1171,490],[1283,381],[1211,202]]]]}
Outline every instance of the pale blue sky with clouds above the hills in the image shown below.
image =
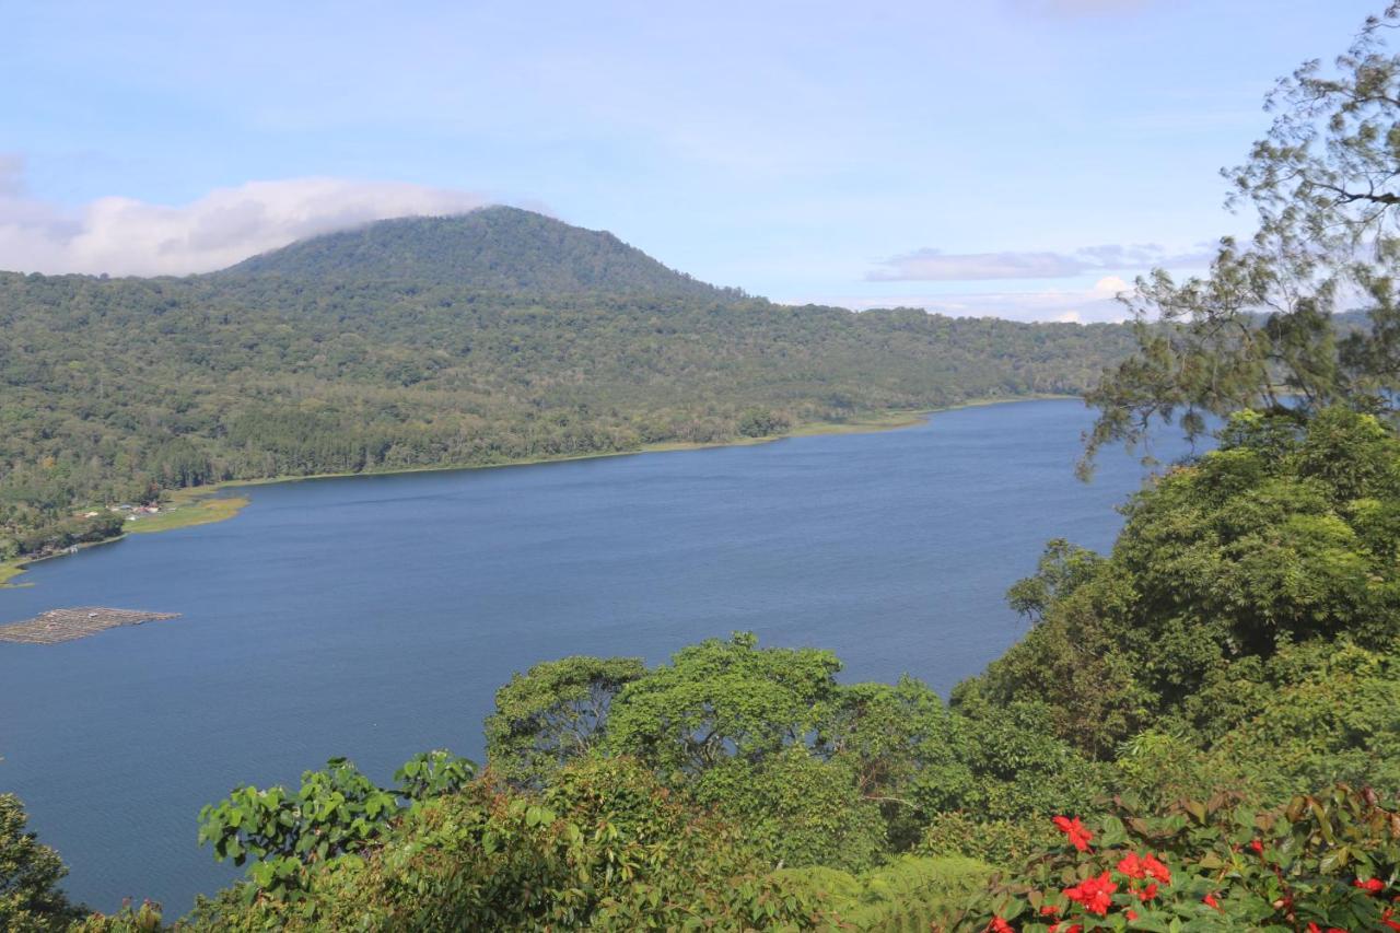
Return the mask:
{"type": "Polygon", "coordinates": [[[510,203],[784,303],[1114,319],[1354,0],[4,3],[0,269],[510,203]]]}

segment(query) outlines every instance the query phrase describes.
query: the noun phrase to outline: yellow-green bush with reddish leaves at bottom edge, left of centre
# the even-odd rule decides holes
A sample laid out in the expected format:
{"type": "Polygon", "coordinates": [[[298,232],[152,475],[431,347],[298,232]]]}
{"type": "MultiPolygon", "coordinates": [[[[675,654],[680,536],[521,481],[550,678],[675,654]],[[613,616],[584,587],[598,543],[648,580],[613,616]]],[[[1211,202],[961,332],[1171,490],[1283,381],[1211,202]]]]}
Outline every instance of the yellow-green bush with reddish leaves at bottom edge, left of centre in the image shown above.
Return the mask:
{"type": "Polygon", "coordinates": [[[734,827],[624,759],[574,762],[543,796],[475,782],[363,859],[318,863],[295,905],[204,902],[196,929],[812,929],[818,897],[769,877],[734,827]]]}

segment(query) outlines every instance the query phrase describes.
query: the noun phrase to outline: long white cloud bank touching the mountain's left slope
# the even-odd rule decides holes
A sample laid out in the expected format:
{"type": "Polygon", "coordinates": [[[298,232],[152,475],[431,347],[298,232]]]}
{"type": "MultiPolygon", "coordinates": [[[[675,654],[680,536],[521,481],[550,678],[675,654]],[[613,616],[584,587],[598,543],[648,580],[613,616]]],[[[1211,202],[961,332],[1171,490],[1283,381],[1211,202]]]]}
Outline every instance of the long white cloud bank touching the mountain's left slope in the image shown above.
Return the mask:
{"type": "Polygon", "coordinates": [[[0,269],[188,275],[372,220],[455,214],[489,200],[406,182],[290,178],[218,188],[188,205],[99,198],[63,209],[29,198],[22,163],[0,156],[0,269]]]}

